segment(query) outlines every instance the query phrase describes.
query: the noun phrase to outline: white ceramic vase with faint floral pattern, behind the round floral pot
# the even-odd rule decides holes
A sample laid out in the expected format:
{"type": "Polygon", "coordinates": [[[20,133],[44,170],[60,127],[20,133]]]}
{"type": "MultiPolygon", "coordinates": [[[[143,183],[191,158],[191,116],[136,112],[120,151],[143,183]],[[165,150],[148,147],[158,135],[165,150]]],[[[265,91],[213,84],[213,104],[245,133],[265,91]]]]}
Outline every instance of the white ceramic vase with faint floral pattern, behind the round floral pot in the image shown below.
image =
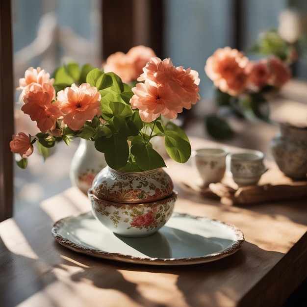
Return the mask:
{"type": "Polygon", "coordinates": [[[106,166],[104,154],[95,149],[94,142],[80,139],[70,165],[70,180],[87,194],[95,176],[106,166]]]}

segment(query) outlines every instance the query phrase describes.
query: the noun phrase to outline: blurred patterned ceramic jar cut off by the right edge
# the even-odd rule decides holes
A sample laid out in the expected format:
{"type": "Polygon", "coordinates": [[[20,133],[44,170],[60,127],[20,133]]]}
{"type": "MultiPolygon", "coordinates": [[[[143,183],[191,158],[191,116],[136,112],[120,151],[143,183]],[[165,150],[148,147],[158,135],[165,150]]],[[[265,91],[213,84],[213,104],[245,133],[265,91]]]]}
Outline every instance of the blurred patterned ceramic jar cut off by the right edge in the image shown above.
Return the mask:
{"type": "Polygon", "coordinates": [[[270,143],[271,152],[287,177],[307,179],[307,127],[279,124],[279,132],[270,143]]]}

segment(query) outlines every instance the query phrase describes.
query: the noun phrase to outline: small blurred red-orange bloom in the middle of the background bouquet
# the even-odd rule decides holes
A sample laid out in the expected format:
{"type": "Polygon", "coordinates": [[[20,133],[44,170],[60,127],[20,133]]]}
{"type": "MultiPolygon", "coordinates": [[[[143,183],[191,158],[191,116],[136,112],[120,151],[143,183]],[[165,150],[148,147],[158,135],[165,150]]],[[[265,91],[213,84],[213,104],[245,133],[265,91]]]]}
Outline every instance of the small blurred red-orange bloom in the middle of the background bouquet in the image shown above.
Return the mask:
{"type": "Polygon", "coordinates": [[[267,66],[267,60],[261,59],[257,62],[250,62],[249,83],[255,86],[257,90],[266,85],[270,77],[270,70],[267,66]]]}

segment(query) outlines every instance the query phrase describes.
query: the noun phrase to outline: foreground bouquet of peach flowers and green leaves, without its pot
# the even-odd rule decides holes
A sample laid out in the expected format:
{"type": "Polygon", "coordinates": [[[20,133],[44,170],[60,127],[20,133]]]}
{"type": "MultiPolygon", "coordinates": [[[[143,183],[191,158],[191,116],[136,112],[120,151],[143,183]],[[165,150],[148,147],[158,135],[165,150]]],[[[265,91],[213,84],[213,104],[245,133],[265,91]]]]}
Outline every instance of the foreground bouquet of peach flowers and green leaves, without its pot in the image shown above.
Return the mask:
{"type": "Polygon", "coordinates": [[[114,72],[88,64],[80,68],[75,62],[56,69],[52,78],[40,67],[26,70],[17,88],[22,91],[21,109],[37,123],[40,132],[13,135],[11,151],[21,156],[17,164],[26,167],[34,143],[47,158],[59,141],[69,145],[80,137],[95,142],[112,169],[152,170],[166,166],[153,149],[151,140],[156,136],[164,138],[172,159],[186,162],[191,154],[189,139],[171,120],[200,100],[198,73],[175,67],[170,58],[162,61],[152,57],[153,51],[146,49],[144,53],[144,48],[137,46],[127,55],[117,53],[104,66],[127,82],[136,77],[139,83],[135,86],[114,72]]]}

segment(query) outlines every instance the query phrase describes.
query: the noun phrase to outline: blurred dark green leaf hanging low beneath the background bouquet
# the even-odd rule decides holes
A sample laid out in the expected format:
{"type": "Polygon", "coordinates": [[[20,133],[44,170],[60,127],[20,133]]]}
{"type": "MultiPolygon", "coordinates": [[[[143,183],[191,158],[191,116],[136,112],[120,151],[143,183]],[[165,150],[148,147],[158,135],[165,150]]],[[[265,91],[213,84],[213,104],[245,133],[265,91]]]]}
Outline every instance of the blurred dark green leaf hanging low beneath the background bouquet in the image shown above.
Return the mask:
{"type": "Polygon", "coordinates": [[[217,140],[224,140],[233,135],[228,123],[216,115],[210,115],[206,118],[205,127],[208,134],[217,140]]]}

